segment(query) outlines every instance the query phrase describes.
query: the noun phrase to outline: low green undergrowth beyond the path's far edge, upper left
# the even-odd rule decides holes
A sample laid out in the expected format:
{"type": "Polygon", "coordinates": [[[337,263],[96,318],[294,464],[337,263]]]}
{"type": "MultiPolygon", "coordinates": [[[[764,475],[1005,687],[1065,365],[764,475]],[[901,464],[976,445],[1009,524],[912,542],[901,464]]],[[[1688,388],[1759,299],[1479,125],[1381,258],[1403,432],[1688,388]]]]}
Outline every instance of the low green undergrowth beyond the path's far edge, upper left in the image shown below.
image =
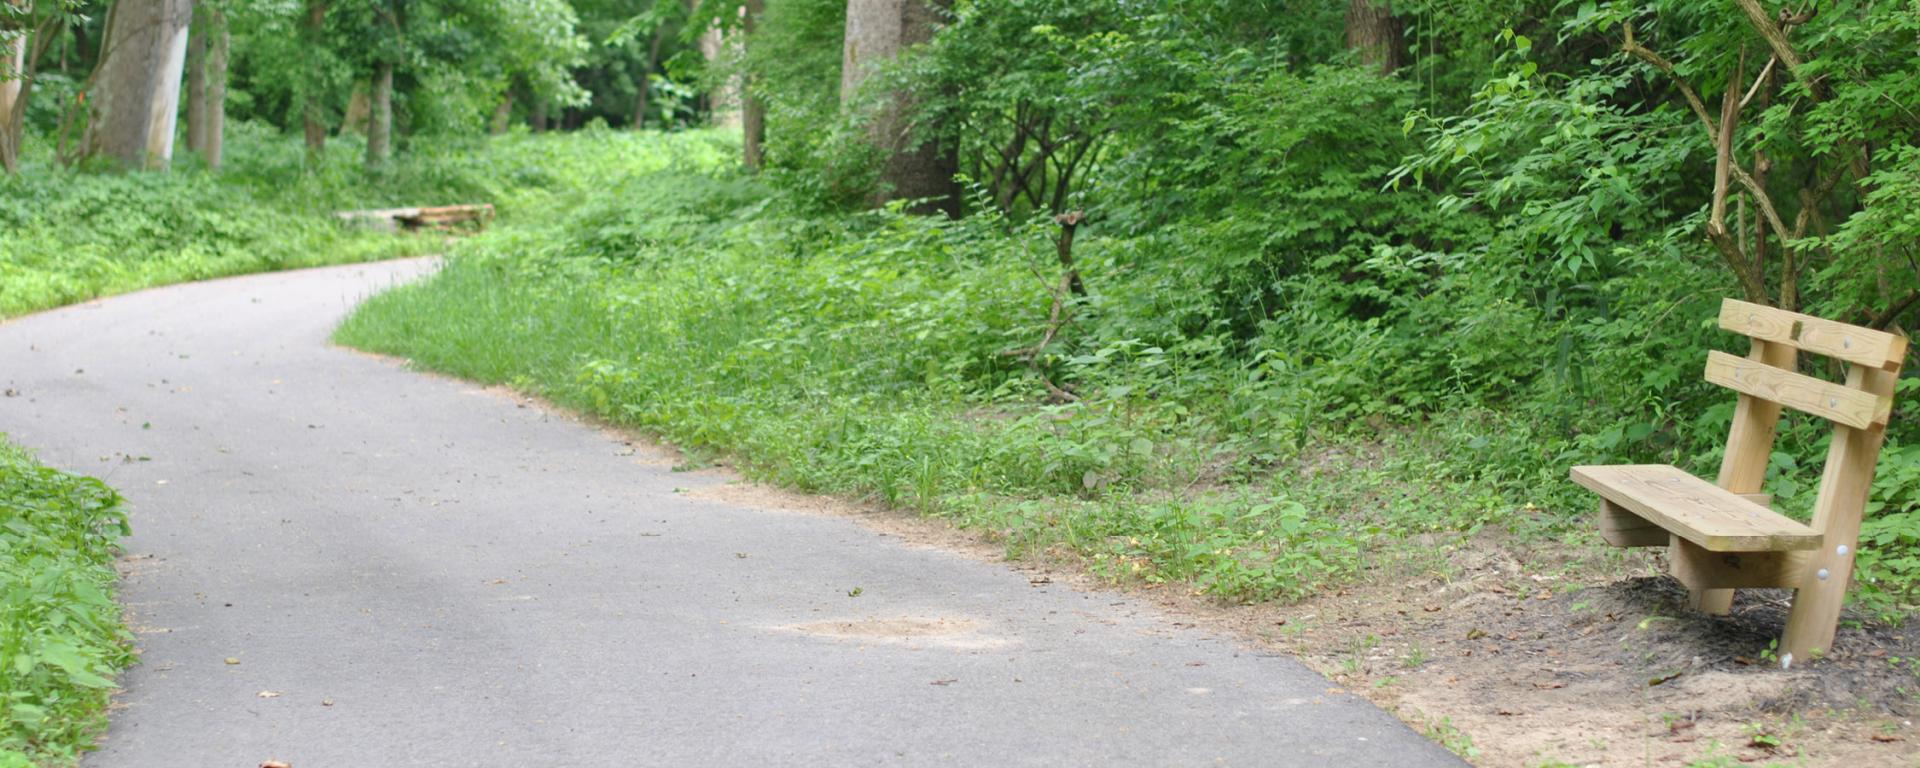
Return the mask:
{"type": "Polygon", "coordinates": [[[622,167],[630,140],[605,131],[434,138],[369,173],[351,136],[309,167],[296,138],[240,125],[221,173],[190,156],[163,175],[81,173],[33,157],[0,177],[0,319],[169,282],[440,252],[438,236],[346,228],[330,213],[492,202],[507,221],[540,215],[597,169],[622,167]]]}

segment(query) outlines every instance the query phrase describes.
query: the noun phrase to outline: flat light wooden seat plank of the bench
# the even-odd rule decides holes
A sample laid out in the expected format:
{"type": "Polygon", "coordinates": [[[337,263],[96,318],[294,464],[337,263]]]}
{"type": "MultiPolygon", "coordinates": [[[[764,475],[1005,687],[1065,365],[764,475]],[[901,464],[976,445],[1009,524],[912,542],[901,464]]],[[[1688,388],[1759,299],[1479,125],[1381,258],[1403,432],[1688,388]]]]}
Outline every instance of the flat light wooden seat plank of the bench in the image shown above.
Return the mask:
{"type": "Polygon", "coordinates": [[[1572,482],[1716,553],[1818,549],[1820,532],[1668,465],[1574,467],[1572,482]]]}

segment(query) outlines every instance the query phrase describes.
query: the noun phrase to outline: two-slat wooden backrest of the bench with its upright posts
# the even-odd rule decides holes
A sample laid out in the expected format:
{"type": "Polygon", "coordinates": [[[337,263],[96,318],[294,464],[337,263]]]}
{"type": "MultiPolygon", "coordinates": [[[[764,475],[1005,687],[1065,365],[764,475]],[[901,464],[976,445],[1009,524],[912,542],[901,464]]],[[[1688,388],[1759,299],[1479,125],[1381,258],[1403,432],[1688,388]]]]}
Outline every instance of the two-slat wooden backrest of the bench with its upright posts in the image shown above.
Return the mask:
{"type": "Polygon", "coordinates": [[[1857,530],[1893,413],[1893,382],[1907,359],[1907,338],[1740,300],[1720,303],[1720,328],[1753,340],[1747,357],[1707,353],[1707,380],[1740,392],[1720,488],[1759,493],[1780,407],[1811,413],[1834,422],[1836,430],[1812,526],[1830,536],[1845,534],[1851,516],[1857,530]],[[1847,363],[1845,384],[1793,371],[1801,351],[1847,363]]]}

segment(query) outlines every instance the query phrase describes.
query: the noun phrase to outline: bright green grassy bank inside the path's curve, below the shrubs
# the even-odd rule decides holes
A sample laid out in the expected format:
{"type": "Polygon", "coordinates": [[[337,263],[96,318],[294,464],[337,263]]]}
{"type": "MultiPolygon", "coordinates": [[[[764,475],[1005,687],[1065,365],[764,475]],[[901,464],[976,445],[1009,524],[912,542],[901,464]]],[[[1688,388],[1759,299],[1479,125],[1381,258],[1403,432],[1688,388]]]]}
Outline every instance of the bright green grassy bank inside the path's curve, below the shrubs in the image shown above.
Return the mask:
{"type": "MultiPolygon", "coordinates": [[[[947,516],[1016,555],[1071,553],[1116,580],[1233,601],[1315,593],[1411,557],[1392,543],[1413,534],[1467,534],[1507,509],[1486,478],[1421,467],[1453,449],[1427,434],[1384,438],[1390,461],[1313,470],[1327,445],[1367,442],[1329,432],[1306,455],[1290,420],[1256,413],[1267,434],[1219,415],[1260,411],[1233,399],[1258,392],[1244,371],[1173,372],[1200,382],[1177,399],[1117,384],[1039,405],[1033,374],[1000,349],[1031,344],[1046,317],[1008,252],[1044,248],[995,221],[789,211],[718,163],[678,163],[468,242],[336,338],[534,390],[764,480],[947,516]]],[[[1135,384],[1179,365],[1110,349],[1064,365],[1135,384]]]]}

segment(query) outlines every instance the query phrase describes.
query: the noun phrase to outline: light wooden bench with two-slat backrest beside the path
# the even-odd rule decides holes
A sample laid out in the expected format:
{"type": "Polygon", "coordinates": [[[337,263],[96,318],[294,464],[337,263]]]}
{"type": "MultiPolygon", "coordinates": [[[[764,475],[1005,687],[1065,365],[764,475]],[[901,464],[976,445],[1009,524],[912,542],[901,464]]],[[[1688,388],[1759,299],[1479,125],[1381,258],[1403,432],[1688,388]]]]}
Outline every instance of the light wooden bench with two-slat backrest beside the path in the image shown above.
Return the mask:
{"type": "Polygon", "coordinates": [[[1753,348],[1707,353],[1707,380],[1740,394],[1718,484],[1667,465],[1574,467],[1572,480],[1599,493],[1607,543],[1668,547],[1699,611],[1728,612],[1736,588],[1795,589],[1780,639],[1786,668],[1834,643],[1907,338],[1736,300],[1720,303],[1720,328],[1753,348]],[[1847,363],[1847,382],[1795,372],[1801,351],[1847,363]],[[1811,526],[1761,493],[1782,407],[1834,422],[1811,526]]]}

